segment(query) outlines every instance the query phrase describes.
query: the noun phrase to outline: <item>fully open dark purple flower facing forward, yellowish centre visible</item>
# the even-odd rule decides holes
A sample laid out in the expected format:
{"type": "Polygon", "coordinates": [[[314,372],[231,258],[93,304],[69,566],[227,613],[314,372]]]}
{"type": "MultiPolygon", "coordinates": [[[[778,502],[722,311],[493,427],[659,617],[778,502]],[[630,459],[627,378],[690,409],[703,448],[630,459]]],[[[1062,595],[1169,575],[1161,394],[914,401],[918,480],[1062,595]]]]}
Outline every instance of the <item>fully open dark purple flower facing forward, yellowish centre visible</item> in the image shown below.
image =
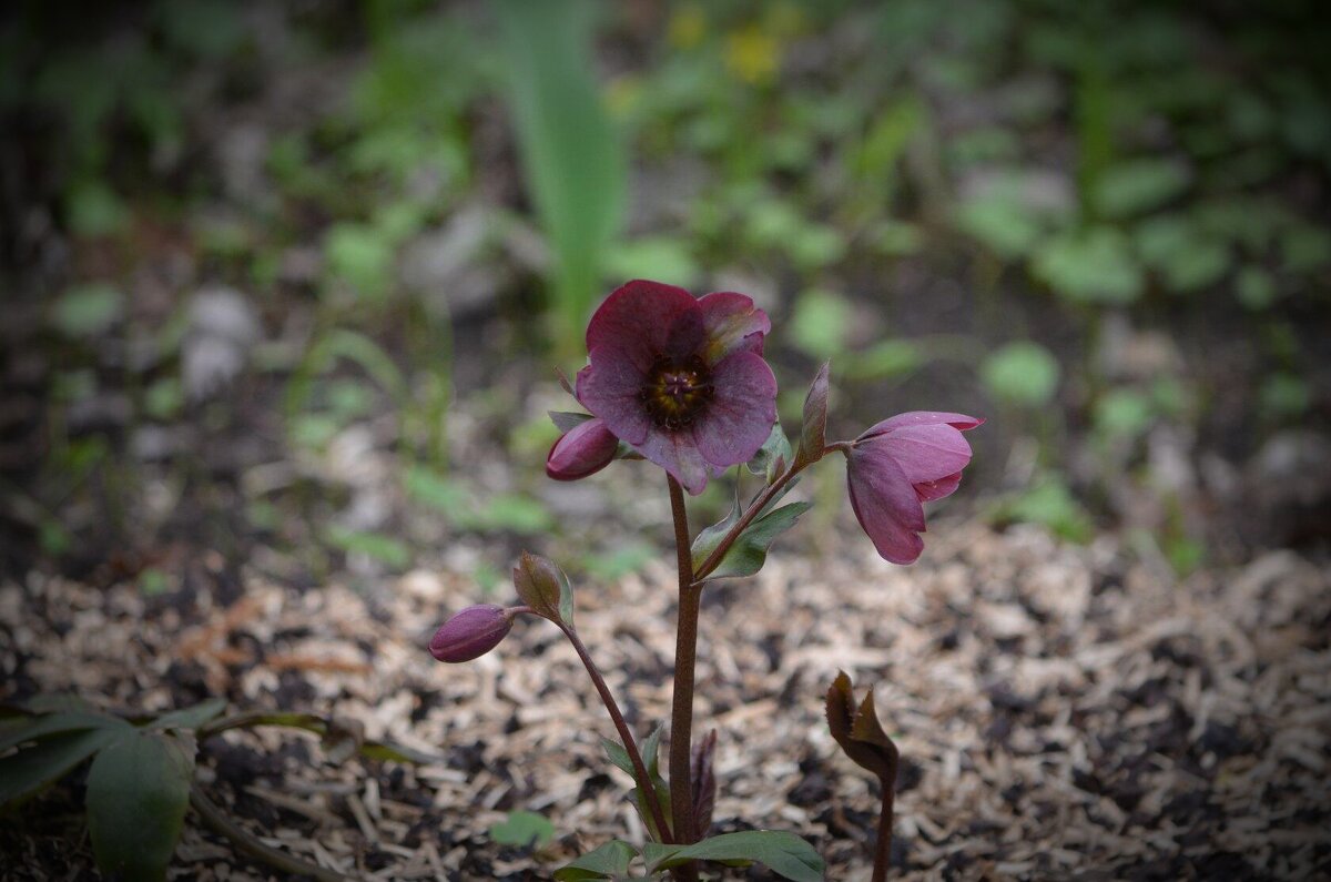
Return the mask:
{"type": "Polygon", "coordinates": [[[709,470],[749,461],[771,434],[776,377],[763,360],[771,328],[744,294],[695,298],[631,281],[587,326],[578,400],[696,496],[709,470]]]}

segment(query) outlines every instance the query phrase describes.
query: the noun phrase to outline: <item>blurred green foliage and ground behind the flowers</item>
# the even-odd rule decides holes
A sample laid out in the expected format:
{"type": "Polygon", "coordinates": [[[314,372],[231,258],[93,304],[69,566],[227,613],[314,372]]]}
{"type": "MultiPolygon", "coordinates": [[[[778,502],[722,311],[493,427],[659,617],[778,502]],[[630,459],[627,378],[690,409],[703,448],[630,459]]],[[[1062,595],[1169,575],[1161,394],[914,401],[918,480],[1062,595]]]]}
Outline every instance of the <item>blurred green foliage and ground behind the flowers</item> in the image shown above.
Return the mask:
{"type": "MultiPolygon", "coordinates": [[[[41,290],[56,366],[40,484],[7,494],[59,554],[97,520],[89,498],[146,484],[134,430],[226,426],[185,370],[192,289],[225,282],[282,336],[246,369],[293,456],[373,426],[411,510],[550,529],[534,496],[550,429],[487,386],[524,356],[580,357],[595,300],[654,277],[759,296],[783,378],[832,358],[865,389],[849,400],[998,410],[986,432],[1034,438],[1038,468],[996,517],[1083,538],[1158,426],[1246,433],[1217,446],[1247,456],[1320,413],[1331,56],[1315,12],[146,0],[72,24],[20,3],[0,113],[40,173],[15,179],[25,213],[5,220],[29,232],[9,274],[41,290]],[[1123,326],[1159,332],[1169,357],[1126,364],[1123,326]],[[1226,334],[1244,388],[1205,364],[1226,334]],[[524,469],[502,492],[453,469],[458,394],[524,469]]],[[[240,509],[272,530],[282,505],[341,502],[310,498],[302,476],[240,509]]],[[[314,533],[401,568],[419,540],[394,529],[314,533]]],[[[1174,534],[1162,548],[1186,564],[1197,540],[1174,534]]]]}

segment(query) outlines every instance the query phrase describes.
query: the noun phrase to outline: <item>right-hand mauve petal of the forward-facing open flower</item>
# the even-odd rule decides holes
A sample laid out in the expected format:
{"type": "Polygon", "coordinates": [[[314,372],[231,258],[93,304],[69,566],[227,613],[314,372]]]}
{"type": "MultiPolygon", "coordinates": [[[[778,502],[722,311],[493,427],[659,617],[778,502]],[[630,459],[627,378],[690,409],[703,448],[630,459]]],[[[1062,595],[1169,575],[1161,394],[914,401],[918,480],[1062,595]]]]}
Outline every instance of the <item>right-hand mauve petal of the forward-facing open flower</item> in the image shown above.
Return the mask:
{"type": "Polygon", "coordinates": [[[763,356],[741,349],[712,369],[712,400],[693,426],[708,465],[748,462],[776,422],[776,377],[763,356]]]}

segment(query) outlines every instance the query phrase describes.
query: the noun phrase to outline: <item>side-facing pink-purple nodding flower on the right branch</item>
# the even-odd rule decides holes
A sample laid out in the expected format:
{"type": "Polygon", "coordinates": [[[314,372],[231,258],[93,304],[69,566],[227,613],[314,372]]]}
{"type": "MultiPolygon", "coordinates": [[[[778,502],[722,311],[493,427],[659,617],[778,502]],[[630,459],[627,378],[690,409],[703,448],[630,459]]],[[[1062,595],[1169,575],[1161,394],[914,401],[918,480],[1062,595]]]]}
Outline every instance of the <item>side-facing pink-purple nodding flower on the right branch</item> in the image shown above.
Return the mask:
{"type": "Polygon", "coordinates": [[[924,550],[924,505],[952,494],[970,462],[961,436],[984,420],[916,410],[884,420],[851,444],[847,482],[860,526],[884,560],[913,564],[924,550]]]}

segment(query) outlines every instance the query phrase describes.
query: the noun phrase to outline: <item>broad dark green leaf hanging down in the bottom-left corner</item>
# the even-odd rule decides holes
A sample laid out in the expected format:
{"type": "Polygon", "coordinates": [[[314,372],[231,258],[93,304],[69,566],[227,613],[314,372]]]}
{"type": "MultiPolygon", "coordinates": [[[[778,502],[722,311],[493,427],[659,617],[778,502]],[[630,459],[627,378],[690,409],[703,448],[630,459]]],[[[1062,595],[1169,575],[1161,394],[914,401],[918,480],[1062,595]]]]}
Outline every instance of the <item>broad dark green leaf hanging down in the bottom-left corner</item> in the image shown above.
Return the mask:
{"type": "Polygon", "coordinates": [[[102,873],[166,878],[193,777],[193,738],[140,729],[97,754],[88,771],[88,834],[102,873]]]}

